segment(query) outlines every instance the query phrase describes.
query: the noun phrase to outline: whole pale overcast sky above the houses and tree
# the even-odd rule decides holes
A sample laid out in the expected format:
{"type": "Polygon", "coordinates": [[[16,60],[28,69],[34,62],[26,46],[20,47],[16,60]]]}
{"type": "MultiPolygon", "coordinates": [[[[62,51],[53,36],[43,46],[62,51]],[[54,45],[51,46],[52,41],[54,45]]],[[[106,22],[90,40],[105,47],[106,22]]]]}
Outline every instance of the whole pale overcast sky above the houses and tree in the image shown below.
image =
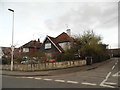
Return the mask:
{"type": "Polygon", "coordinates": [[[14,44],[19,47],[46,35],[56,37],[66,32],[72,35],[93,30],[111,48],[118,47],[117,2],[1,2],[0,46],[11,45],[12,12],[15,10],[14,44]]]}

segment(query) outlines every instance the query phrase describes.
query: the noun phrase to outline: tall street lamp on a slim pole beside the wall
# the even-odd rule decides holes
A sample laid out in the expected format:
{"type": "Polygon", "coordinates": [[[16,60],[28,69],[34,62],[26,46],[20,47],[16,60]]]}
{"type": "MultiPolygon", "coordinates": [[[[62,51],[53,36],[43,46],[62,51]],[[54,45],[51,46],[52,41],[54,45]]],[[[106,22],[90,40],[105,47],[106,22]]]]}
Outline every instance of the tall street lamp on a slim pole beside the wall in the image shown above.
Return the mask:
{"type": "Polygon", "coordinates": [[[13,38],[14,38],[14,10],[8,9],[13,13],[13,21],[12,21],[12,45],[11,45],[11,71],[13,71],[13,55],[14,55],[14,46],[13,46],[13,38]]]}

